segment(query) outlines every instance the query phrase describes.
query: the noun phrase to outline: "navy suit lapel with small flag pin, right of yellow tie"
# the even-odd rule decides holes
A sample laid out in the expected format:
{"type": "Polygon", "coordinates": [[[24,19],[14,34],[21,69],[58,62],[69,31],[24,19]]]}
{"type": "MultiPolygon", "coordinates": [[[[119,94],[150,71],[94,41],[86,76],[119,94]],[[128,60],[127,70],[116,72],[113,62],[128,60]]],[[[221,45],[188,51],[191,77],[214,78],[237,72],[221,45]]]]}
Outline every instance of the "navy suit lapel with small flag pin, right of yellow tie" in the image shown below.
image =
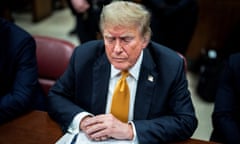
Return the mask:
{"type": "Polygon", "coordinates": [[[146,119],[151,107],[154,87],[158,73],[155,70],[155,63],[147,48],[144,49],[143,62],[140,70],[140,77],[136,91],[134,119],[146,119]]]}

